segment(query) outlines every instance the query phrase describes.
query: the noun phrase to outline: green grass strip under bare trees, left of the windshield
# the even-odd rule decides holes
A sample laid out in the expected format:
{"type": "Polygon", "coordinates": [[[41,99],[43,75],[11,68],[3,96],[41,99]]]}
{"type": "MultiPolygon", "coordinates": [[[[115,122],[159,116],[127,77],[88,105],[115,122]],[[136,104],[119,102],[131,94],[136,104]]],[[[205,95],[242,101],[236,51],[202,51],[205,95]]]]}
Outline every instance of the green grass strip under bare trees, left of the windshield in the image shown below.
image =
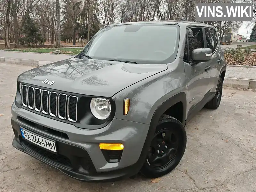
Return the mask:
{"type": "MultiPolygon", "coordinates": [[[[51,49],[51,48],[27,48],[27,49],[10,49],[8,51],[20,51],[20,52],[33,52],[33,53],[50,53],[56,50],[60,50],[61,54],[77,55],[82,51],[82,48],[65,48],[65,49],[51,49]],[[72,53],[67,53],[72,52],[72,53]]],[[[54,53],[53,53],[54,54],[54,53]]]]}

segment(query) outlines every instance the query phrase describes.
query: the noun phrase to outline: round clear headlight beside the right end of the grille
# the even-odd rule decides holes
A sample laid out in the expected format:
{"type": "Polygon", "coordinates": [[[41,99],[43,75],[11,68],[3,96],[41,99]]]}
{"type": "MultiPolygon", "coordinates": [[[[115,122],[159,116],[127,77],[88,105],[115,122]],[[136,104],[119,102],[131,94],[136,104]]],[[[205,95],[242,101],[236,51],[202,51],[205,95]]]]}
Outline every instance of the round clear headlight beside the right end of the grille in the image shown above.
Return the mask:
{"type": "Polygon", "coordinates": [[[108,99],[92,98],[90,108],[92,115],[98,119],[107,119],[111,112],[111,105],[108,99]]]}

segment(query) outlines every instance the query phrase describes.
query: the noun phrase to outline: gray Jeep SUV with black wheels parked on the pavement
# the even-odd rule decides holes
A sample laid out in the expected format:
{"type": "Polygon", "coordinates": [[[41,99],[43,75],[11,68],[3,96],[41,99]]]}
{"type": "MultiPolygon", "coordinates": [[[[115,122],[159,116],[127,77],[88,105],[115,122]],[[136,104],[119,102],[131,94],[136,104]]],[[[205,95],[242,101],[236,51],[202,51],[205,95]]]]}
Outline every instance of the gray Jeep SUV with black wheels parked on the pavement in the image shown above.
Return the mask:
{"type": "Polygon", "coordinates": [[[12,145],[78,180],[172,171],[185,124],[220,105],[216,29],[183,21],[103,27],[81,53],[17,78],[12,145]]]}

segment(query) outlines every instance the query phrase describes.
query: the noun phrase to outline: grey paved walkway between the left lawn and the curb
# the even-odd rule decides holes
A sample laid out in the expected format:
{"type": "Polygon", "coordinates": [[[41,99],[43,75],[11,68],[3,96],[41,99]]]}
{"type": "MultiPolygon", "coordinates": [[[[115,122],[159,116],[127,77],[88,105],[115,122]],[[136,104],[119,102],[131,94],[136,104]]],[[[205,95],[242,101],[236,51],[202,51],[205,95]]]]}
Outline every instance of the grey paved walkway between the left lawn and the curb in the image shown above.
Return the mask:
{"type": "Polygon", "coordinates": [[[68,58],[73,57],[73,56],[71,56],[71,55],[57,55],[57,54],[28,53],[28,52],[0,51],[0,57],[55,62],[55,61],[68,59],[68,58]]]}

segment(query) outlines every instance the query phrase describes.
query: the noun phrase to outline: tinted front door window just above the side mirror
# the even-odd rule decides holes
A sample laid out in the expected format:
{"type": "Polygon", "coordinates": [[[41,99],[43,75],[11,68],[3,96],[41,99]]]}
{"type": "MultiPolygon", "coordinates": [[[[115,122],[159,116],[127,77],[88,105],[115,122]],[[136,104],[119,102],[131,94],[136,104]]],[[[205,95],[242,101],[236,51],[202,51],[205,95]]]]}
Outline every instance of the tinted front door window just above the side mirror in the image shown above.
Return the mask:
{"type": "Polygon", "coordinates": [[[189,57],[191,59],[191,54],[194,49],[204,48],[204,37],[202,28],[191,28],[187,30],[188,32],[188,49],[189,57]]]}

